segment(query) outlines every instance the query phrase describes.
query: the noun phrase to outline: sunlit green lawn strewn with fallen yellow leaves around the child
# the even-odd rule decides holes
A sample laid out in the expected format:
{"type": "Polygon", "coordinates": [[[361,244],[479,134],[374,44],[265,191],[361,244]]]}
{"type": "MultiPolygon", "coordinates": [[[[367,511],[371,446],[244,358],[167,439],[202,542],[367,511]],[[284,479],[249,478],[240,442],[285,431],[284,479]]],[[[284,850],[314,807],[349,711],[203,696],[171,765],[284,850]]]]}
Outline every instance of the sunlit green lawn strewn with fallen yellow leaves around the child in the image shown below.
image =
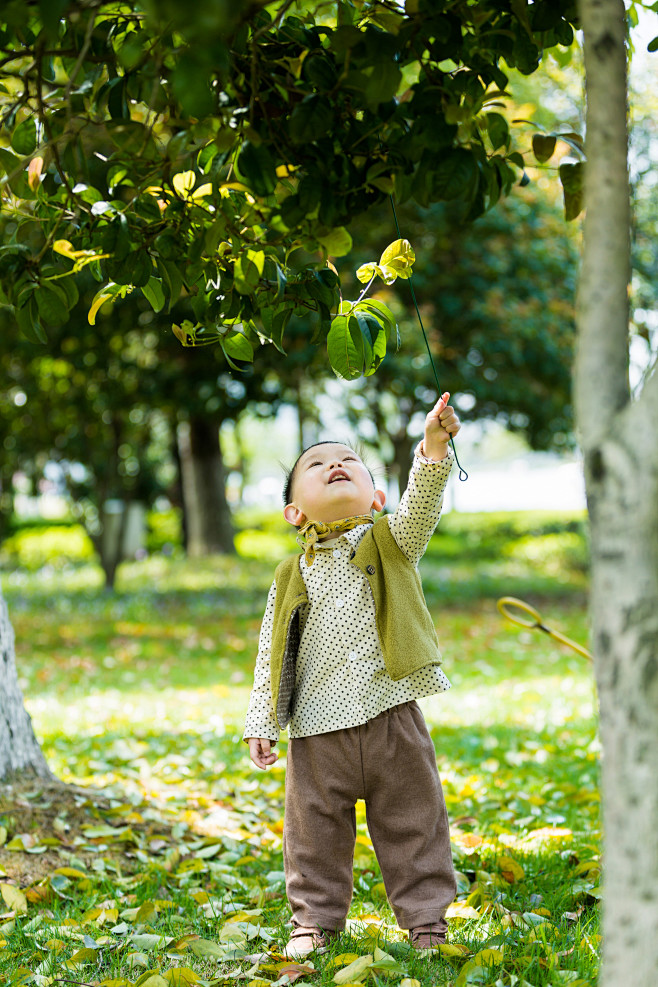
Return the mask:
{"type": "MultiPolygon", "coordinates": [[[[268,518],[245,530],[250,554],[260,535],[282,537],[268,518]]],[[[442,521],[422,573],[453,689],[421,705],[458,870],[452,949],[409,951],[359,803],[348,929],[282,984],[329,987],[343,969],[373,987],[596,982],[591,669],[495,609],[498,596],[521,596],[586,643],[585,570],[579,518],[442,521]],[[371,957],[360,974],[357,956],[371,957]]],[[[271,575],[258,557],[153,556],[124,565],[107,594],[84,562],[5,573],[35,729],[77,787],[2,793],[0,983],[282,980],[285,772],[258,772],[241,742],[271,575]]]]}

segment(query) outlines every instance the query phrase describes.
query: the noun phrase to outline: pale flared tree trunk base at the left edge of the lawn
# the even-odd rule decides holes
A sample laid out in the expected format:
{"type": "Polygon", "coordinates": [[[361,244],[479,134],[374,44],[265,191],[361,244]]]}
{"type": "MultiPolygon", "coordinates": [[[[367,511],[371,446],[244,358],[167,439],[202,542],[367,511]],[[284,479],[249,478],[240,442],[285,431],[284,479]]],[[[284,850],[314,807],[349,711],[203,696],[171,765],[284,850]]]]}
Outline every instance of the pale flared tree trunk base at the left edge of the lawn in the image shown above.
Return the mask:
{"type": "Polygon", "coordinates": [[[14,631],[0,594],[0,781],[12,781],[18,775],[54,780],[23,705],[16,677],[14,631]]]}

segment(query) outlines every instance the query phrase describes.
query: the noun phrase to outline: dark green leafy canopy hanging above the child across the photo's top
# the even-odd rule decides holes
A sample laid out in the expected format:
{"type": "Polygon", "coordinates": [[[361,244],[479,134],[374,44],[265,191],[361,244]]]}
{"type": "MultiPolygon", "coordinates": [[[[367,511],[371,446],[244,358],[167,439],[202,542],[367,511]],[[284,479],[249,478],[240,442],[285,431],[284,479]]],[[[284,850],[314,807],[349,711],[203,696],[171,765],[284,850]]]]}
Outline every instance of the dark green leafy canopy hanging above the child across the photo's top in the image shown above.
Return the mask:
{"type": "Polygon", "coordinates": [[[509,192],[502,65],[532,73],[577,23],[574,0],[7,4],[4,300],[43,340],[83,271],[91,321],[189,296],[177,335],[235,367],[293,315],[323,338],[354,217],[395,193],[470,219],[509,192]]]}

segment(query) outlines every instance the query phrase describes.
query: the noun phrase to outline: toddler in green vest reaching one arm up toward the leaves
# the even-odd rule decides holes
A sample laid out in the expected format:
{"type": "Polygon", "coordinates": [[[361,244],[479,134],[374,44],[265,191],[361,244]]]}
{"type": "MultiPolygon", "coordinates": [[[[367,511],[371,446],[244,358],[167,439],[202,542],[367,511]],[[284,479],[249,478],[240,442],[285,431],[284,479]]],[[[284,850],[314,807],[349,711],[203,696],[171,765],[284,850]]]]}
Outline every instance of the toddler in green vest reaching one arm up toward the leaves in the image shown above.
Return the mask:
{"type": "Polygon", "coordinates": [[[284,516],[301,555],[276,569],[244,739],[266,768],[288,727],[283,855],[293,932],[286,953],[323,949],[345,926],[355,803],[412,946],[445,942],[456,886],[436,755],[416,703],[450,688],[418,561],[441,513],[459,419],[445,393],[425,419],[397,510],[340,442],[304,450],[284,516]]]}

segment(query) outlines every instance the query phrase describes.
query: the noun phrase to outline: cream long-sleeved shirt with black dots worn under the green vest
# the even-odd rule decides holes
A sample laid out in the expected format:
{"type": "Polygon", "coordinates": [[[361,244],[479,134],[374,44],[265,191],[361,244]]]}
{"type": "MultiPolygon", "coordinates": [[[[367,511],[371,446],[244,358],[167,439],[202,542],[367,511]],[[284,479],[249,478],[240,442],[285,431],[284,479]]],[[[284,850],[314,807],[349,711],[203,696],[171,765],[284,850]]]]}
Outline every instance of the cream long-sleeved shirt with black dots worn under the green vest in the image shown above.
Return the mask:
{"type": "MultiPolygon", "coordinates": [[[[391,533],[407,558],[417,565],[438,523],[443,491],[454,457],[440,462],[416,448],[409,482],[395,513],[391,533]]],[[[359,726],[412,699],[445,692],[450,682],[438,665],[428,665],[394,682],[386,671],[375,621],[375,601],[364,574],[350,564],[368,531],[361,524],[316,546],[313,565],[302,558],[300,570],[308,604],[301,617],[297,679],[291,737],[309,737],[359,726]]],[[[260,632],[254,686],[244,739],[277,740],[270,686],[270,651],[276,584],[273,583],[260,632]]]]}

